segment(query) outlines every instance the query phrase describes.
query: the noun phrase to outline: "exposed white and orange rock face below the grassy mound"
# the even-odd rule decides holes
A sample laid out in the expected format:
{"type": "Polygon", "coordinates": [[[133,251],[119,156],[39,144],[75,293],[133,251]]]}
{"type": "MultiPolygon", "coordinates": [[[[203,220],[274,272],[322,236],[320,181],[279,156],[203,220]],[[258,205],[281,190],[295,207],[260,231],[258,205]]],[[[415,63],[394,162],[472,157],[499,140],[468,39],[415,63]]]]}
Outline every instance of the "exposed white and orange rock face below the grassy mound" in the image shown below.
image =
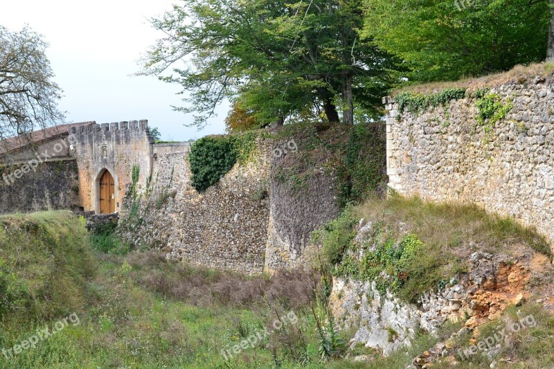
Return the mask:
{"type": "Polygon", "coordinates": [[[417,305],[407,304],[375,282],[335,278],[330,308],[343,329],[357,329],[356,342],[386,355],[409,345],[418,330],[434,333],[447,320],[466,320],[470,330],[497,318],[510,304],[528,295],[530,273],[526,262],[508,262],[504,255],[476,252],[468,273],[453,278],[443,291],[425,293],[417,305]]]}

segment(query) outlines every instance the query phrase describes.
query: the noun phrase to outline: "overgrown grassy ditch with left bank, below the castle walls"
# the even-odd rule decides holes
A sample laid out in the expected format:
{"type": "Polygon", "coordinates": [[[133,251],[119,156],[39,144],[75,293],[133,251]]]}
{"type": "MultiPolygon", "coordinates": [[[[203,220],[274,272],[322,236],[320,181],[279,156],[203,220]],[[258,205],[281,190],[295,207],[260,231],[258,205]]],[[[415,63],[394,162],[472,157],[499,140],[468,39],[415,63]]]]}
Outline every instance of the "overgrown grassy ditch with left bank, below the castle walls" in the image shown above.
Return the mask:
{"type": "Polygon", "coordinates": [[[80,321],[9,360],[0,354],[1,368],[324,367],[304,294],[316,287],[314,276],[248,278],[168,262],[153,251],[93,251],[80,219],[65,212],[0,217],[0,224],[8,289],[26,291],[3,295],[0,349],[71,313],[80,321]],[[223,348],[291,309],[298,324],[231,361],[222,357],[223,348]]]}

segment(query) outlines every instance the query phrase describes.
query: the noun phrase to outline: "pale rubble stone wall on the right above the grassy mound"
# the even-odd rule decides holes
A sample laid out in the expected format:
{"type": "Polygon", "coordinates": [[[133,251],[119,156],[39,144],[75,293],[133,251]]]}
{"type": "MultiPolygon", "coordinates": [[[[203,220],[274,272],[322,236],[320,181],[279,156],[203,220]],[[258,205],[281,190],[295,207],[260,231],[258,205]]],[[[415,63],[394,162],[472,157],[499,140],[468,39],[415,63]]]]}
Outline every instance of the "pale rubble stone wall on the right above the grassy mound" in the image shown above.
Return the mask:
{"type": "Polygon", "coordinates": [[[513,108],[494,127],[480,125],[476,98],[418,113],[388,109],[388,186],[427,200],[473,202],[537,226],[554,240],[553,80],[492,87],[513,108]]]}

